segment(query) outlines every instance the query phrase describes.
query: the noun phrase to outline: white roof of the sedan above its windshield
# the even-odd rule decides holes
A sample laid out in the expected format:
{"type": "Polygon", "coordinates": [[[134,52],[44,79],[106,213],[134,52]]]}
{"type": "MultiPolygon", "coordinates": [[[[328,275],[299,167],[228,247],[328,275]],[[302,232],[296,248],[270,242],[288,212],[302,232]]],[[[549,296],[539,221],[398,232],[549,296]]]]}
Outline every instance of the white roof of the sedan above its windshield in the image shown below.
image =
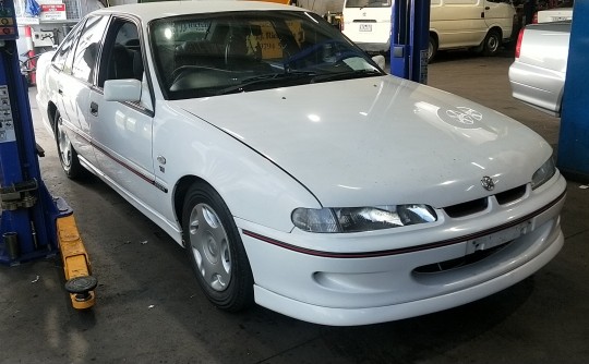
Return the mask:
{"type": "Polygon", "coordinates": [[[263,1],[247,0],[191,0],[191,1],[156,1],[146,3],[133,3],[104,8],[94,13],[131,14],[139,16],[143,22],[155,19],[228,11],[268,11],[268,10],[293,10],[303,11],[297,7],[277,4],[263,1]]]}

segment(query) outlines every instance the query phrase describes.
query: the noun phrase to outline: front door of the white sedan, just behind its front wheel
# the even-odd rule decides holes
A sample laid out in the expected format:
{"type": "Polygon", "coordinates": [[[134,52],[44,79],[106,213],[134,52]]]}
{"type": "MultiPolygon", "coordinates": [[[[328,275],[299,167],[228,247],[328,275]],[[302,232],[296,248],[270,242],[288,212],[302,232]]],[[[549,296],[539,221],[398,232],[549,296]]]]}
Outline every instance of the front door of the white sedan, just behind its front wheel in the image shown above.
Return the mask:
{"type": "MultiPolygon", "coordinates": [[[[140,101],[107,101],[101,89],[106,80],[143,80],[142,49],[137,27],[128,20],[113,20],[106,37],[98,87],[92,89],[85,111],[101,173],[135,202],[152,208],[158,205],[152,155],[153,112],[140,101]],[[133,48],[128,47],[135,39],[133,48]]],[[[146,90],[148,92],[148,90],[146,90]]]]}

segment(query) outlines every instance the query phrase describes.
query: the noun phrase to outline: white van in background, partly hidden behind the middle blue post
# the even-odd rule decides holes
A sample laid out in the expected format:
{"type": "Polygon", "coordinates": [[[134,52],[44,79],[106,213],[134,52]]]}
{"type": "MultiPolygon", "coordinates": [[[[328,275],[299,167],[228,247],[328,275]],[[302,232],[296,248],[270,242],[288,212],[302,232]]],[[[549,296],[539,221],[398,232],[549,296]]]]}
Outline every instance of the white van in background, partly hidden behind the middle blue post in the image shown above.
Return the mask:
{"type": "MultiPolygon", "coordinates": [[[[390,50],[392,0],[346,0],[344,34],[369,52],[390,50]]],[[[431,60],[438,49],[474,48],[494,54],[512,37],[515,8],[509,0],[431,0],[431,60]]]]}

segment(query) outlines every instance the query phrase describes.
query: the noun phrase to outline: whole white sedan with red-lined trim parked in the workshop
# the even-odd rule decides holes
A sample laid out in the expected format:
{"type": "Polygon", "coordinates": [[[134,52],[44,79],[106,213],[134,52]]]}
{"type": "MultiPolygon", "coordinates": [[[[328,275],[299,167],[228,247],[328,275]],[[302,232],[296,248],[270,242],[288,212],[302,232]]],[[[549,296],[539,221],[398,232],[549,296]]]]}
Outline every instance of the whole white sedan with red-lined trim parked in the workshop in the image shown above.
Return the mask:
{"type": "Polygon", "coordinates": [[[95,173],[185,246],[227,311],[400,319],[505,289],[563,245],[545,141],[387,75],[300,8],[103,9],[37,78],[65,173],[95,173]]]}

